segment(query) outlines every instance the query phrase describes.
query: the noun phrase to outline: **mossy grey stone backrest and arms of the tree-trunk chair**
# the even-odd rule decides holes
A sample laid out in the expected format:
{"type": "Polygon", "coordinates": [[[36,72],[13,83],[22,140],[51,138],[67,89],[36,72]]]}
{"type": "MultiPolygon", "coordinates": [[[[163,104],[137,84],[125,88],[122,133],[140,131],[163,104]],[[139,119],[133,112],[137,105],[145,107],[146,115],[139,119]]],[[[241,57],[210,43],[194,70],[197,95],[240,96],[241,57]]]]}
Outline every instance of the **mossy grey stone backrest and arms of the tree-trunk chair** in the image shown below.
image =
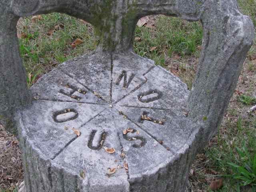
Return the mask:
{"type": "MultiPolygon", "coordinates": [[[[138,20],[150,14],[202,22],[204,36],[188,116],[216,132],[254,37],[253,24],[236,0],[2,0],[0,4],[0,123],[16,132],[15,113],[30,103],[18,51],[16,24],[23,16],[62,12],[94,25],[98,49],[132,49],[138,20]]],[[[207,140],[207,139],[206,139],[207,140]]]]}

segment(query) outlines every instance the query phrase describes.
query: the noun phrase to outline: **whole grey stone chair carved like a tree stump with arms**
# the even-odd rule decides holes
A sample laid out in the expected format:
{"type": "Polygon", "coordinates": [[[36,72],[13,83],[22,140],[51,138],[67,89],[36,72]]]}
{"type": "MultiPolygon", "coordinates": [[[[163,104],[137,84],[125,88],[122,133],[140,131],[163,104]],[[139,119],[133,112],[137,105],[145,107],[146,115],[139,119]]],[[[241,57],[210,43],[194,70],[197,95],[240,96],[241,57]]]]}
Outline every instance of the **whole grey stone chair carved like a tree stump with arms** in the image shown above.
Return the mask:
{"type": "Polygon", "coordinates": [[[0,122],[18,133],[26,192],[184,192],[216,134],[252,45],[236,0],[1,0],[0,122]],[[28,90],[20,17],[66,13],[94,25],[98,48],[28,90]],[[202,22],[192,90],[132,52],[150,14],[202,22]]]}

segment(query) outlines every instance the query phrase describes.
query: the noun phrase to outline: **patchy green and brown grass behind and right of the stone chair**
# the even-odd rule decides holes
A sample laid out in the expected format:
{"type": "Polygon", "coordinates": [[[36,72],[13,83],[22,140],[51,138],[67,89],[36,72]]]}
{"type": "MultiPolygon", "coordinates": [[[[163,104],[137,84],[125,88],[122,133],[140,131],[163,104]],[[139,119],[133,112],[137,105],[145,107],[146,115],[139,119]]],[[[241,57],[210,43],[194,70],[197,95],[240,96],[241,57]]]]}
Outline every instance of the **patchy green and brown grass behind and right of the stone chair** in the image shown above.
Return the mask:
{"type": "MultiPolygon", "coordinates": [[[[238,4],[256,26],[256,1],[238,0],[238,4]]],[[[135,52],[179,76],[191,88],[202,43],[200,22],[165,16],[150,16],[149,19],[151,25],[136,28],[135,52]]],[[[42,15],[42,19],[35,21],[31,17],[23,18],[18,24],[18,34],[28,86],[58,64],[96,48],[92,26],[65,14],[42,15]],[[72,47],[77,38],[83,43],[72,47]]],[[[246,113],[255,104],[255,71],[256,38],[218,134],[192,165],[194,172],[190,175],[190,183],[195,192],[210,192],[208,186],[220,178],[218,175],[233,174],[230,163],[241,162],[237,147],[242,148],[244,144],[251,156],[256,154],[256,113],[246,113]]],[[[224,184],[218,192],[252,192],[250,185],[244,187],[239,185],[239,180],[222,178],[224,184]]],[[[13,189],[4,192],[13,192],[13,189]]]]}

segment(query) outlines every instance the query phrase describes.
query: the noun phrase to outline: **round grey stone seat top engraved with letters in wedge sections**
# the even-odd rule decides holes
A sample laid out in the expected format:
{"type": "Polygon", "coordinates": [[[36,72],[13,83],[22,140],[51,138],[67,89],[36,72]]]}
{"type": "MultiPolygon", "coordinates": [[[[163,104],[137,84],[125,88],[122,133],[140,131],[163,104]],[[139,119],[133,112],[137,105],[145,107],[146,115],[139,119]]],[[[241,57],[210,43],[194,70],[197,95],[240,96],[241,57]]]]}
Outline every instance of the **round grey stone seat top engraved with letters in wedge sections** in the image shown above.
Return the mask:
{"type": "MultiPolygon", "coordinates": [[[[52,164],[51,169],[64,175],[84,171],[80,179],[89,191],[111,186],[127,191],[136,188],[134,182],[143,175],[159,177],[144,183],[147,190],[168,178],[158,187],[165,190],[178,176],[166,168],[188,150],[199,128],[184,115],[186,84],[132,52],[68,61],[31,90],[34,101],[21,115],[22,137],[34,143],[32,150],[52,164]],[[115,152],[109,154],[106,147],[115,152]],[[113,167],[116,172],[108,174],[113,167]]],[[[38,169],[40,173],[32,174],[50,174],[38,169]]],[[[58,187],[55,179],[49,186],[58,187]]],[[[68,178],[63,181],[68,183],[68,178]]]]}

